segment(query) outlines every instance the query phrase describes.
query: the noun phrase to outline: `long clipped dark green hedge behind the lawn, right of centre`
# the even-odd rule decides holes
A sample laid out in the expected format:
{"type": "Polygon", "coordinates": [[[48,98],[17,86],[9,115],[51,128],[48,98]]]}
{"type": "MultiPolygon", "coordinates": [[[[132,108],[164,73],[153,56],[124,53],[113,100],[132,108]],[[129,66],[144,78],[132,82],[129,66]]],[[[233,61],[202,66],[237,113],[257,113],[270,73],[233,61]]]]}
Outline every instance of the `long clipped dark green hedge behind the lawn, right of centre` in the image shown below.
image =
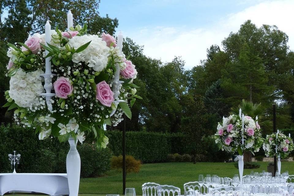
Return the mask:
{"type": "MultiPolygon", "coordinates": [[[[122,132],[107,131],[109,138],[108,147],[115,156],[122,154],[122,132]]],[[[168,155],[178,153],[180,155],[193,154],[189,143],[190,137],[185,134],[155,133],[145,131],[126,132],[126,154],[140,159],[143,163],[158,163],[169,161],[168,155]]],[[[231,155],[219,151],[215,141],[211,137],[203,138],[199,144],[196,154],[203,155],[202,161],[223,162],[228,160],[231,155]]],[[[197,159],[196,159],[197,160],[197,159]]]]}

